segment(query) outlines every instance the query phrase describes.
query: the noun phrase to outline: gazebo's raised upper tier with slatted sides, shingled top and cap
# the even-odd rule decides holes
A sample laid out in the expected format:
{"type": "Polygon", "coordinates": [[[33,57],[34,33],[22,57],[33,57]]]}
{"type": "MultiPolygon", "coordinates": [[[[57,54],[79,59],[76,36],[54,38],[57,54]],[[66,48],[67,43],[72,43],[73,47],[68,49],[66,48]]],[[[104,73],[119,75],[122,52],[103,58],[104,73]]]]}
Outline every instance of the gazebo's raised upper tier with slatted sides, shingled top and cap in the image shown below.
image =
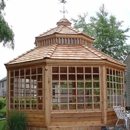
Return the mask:
{"type": "Polygon", "coordinates": [[[71,27],[71,22],[62,18],[57,22],[57,27],[52,28],[36,37],[35,45],[38,47],[50,44],[85,44],[92,47],[94,39],[79,30],[71,27]]]}

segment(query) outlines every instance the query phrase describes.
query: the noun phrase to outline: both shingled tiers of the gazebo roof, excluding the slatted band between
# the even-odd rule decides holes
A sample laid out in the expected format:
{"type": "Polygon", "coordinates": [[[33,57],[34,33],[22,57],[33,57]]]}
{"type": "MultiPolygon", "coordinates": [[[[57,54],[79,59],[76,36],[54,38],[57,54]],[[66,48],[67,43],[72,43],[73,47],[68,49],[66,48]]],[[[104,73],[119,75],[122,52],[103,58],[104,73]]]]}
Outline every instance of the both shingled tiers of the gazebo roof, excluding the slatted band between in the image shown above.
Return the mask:
{"type": "MultiPolygon", "coordinates": [[[[53,35],[55,33],[59,34],[74,34],[79,36],[84,35],[85,37],[94,40],[90,36],[83,34],[82,32],[72,28],[71,23],[63,18],[57,22],[57,27],[50,29],[49,31],[41,34],[37,38],[46,37],[48,35],[53,35]]],[[[37,46],[34,49],[18,56],[12,61],[8,62],[6,65],[24,63],[29,61],[36,61],[42,59],[57,59],[57,60],[107,60],[112,63],[125,66],[123,63],[111,58],[110,56],[100,52],[93,46],[88,46],[87,44],[61,44],[54,42],[53,44],[37,46]]]]}

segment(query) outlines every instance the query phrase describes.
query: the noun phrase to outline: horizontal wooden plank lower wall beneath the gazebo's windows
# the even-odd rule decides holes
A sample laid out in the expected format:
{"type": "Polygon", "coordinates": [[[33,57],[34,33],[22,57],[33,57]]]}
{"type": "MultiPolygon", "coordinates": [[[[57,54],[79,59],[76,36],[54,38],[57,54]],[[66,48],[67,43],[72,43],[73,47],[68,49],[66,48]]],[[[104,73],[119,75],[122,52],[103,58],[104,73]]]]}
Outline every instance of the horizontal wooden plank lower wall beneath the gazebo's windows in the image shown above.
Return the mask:
{"type": "Polygon", "coordinates": [[[114,126],[115,112],[107,111],[106,123],[102,112],[51,113],[50,123],[46,125],[44,111],[24,111],[28,119],[29,130],[101,130],[103,126],[114,126]]]}

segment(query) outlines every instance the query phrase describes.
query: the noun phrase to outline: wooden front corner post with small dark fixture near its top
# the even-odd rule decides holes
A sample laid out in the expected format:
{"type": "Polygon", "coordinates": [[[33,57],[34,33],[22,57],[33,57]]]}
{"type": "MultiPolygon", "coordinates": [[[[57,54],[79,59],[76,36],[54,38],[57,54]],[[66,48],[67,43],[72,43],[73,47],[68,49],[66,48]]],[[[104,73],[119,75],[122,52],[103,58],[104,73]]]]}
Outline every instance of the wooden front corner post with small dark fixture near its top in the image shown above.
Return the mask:
{"type": "Polygon", "coordinates": [[[44,78],[44,95],[45,95],[45,105],[44,105],[44,110],[45,110],[45,126],[49,126],[50,125],[50,110],[51,110],[51,106],[50,106],[50,80],[49,80],[49,72],[50,72],[50,68],[48,66],[45,66],[45,78],[44,78]]]}

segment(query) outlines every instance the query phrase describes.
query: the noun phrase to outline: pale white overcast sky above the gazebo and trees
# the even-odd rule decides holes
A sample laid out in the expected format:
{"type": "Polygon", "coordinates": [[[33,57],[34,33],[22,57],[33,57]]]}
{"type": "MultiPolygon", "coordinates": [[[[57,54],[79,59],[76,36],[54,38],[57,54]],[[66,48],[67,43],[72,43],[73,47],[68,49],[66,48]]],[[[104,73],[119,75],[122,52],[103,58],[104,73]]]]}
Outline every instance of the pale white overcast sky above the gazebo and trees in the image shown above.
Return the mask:
{"type": "MultiPolygon", "coordinates": [[[[5,0],[5,19],[15,34],[15,49],[5,48],[0,44],[0,79],[7,74],[5,63],[35,47],[35,37],[56,27],[63,18],[60,13],[63,6],[59,0],[5,0]]],[[[87,18],[94,16],[104,4],[106,10],[118,21],[124,21],[123,28],[130,27],[129,0],[67,0],[66,18],[76,19],[79,14],[88,13],[87,18]]],[[[128,33],[127,35],[130,35],[128,33]]],[[[128,40],[129,42],[130,40],[128,40]]],[[[130,44],[130,43],[128,43],[130,44]]]]}

